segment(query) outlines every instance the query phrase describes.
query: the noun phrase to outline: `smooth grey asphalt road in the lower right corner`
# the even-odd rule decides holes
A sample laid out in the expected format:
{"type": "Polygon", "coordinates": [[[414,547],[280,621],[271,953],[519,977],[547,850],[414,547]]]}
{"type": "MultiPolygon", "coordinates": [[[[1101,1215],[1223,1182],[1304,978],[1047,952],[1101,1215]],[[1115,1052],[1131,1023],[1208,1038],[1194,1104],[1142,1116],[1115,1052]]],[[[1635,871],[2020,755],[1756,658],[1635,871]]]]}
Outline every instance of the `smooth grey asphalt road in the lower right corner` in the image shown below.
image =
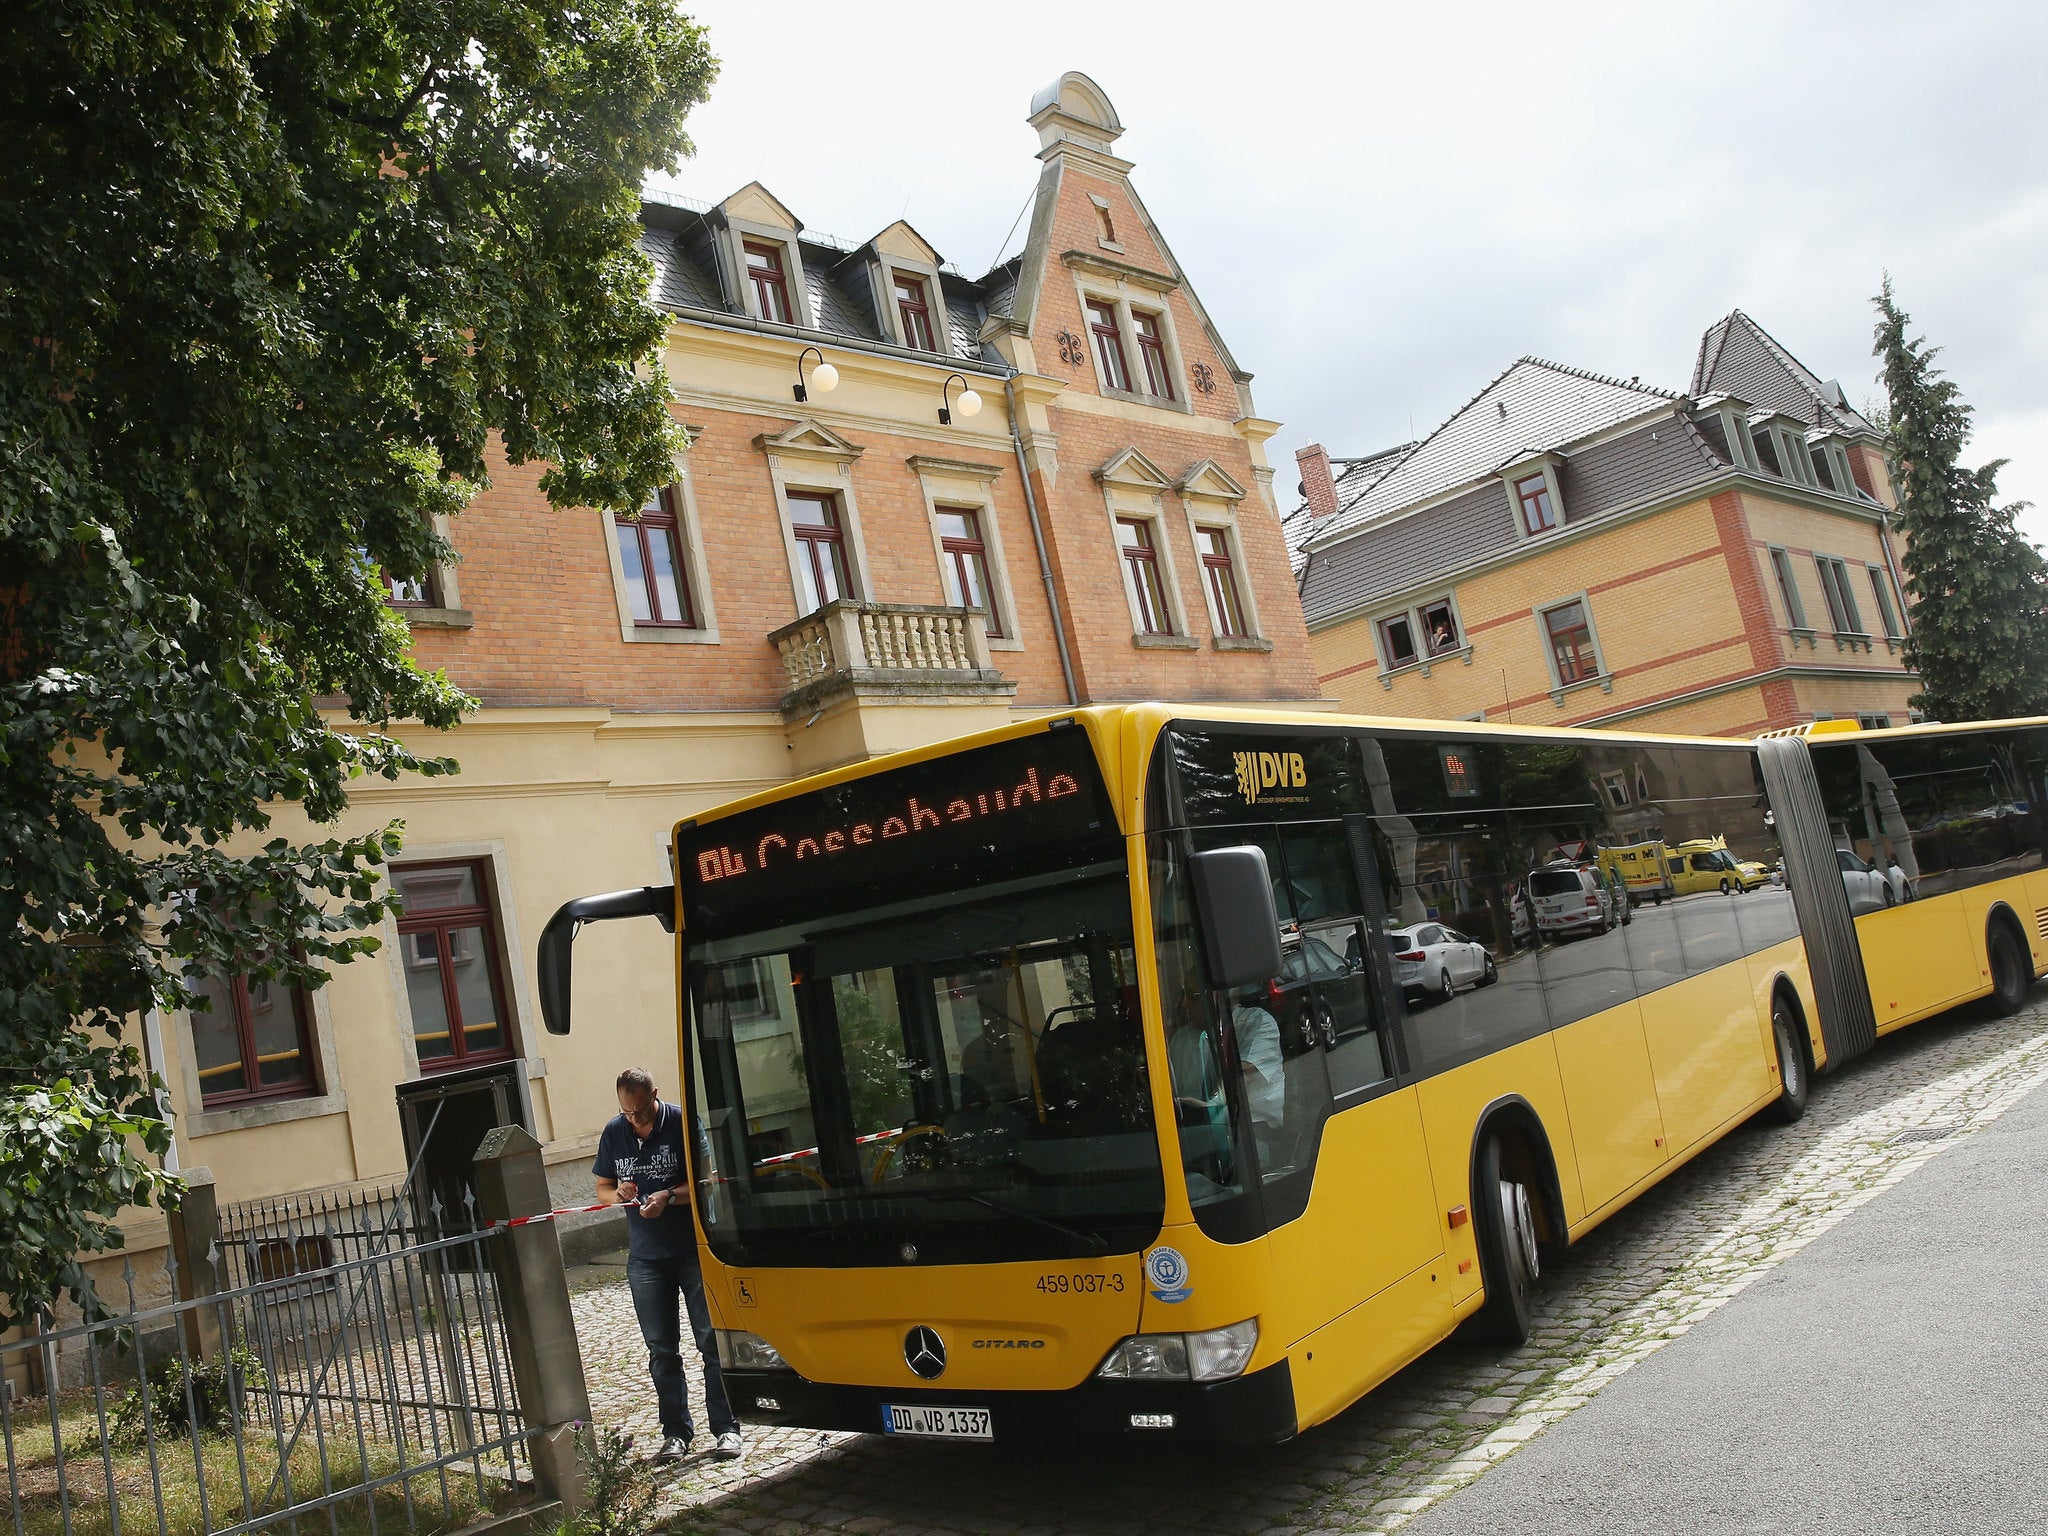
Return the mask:
{"type": "Polygon", "coordinates": [[[2048,1090],[1407,1536],[2048,1530],[2048,1090]]]}

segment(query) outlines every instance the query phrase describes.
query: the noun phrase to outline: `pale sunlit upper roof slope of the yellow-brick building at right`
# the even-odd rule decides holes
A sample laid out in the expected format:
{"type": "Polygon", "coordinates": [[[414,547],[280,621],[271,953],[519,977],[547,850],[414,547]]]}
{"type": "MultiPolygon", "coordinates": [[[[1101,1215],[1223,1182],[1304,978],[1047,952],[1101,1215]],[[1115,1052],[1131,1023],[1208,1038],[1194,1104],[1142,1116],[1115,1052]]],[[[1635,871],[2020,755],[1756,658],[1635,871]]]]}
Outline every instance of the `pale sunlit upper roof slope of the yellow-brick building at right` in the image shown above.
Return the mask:
{"type": "Polygon", "coordinates": [[[1321,545],[1376,518],[1493,475],[1516,459],[1620,426],[1655,410],[1669,410],[1677,395],[1599,373],[1567,369],[1526,356],[1493,379],[1450,420],[1415,442],[1384,473],[1346,496],[1311,541],[1321,545]]]}

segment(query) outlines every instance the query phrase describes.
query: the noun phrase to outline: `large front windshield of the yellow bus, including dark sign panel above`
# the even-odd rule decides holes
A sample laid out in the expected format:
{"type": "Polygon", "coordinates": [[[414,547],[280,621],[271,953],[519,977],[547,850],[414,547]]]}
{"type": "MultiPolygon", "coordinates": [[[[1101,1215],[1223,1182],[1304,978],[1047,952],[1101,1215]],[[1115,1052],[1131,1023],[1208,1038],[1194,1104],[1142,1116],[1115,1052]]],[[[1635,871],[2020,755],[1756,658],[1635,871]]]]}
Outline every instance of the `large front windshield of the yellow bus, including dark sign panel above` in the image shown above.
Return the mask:
{"type": "Polygon", "coordinates": [[[721,870],[766,844],[772,874],[770,840],[799,846],[813,819],[858,854],[825,879],[819,836],[819,885],[786,866],[762,891],[780,920],[760,928],[752,895],[713,889],[692,913],[684,887],[698,1206],[727,1264],[1077,1257],[1157,1237],[1122,840],[1067,735],[1053,760],[1022,737],[702,829],[721,870]],[[1001,784],[1004,809],[948,793],[969,780],[1001,784]],[[928,807],[942,819],[911,848],[928,807]],[[852,840],[897,811],[903,836],[852,840]],[[735,922],[750,930],[723,932],[735,922]]]}

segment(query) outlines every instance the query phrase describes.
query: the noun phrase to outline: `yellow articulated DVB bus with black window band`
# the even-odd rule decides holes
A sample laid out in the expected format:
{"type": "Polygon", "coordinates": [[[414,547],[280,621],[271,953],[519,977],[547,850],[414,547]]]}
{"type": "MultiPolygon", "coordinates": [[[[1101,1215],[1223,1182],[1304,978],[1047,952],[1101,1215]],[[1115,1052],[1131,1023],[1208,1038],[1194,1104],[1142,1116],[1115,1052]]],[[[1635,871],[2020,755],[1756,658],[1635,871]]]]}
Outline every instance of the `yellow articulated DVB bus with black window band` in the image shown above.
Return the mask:
{"type": "Polygon", "coordinates": [[[1882,1028],[2019,1008],[2044,762],[1079,709],[680,823],[674,887],[549,924],[543,1012],[582,922],[674,926],[741,1419],[1274,1442],[1524,1337],[1567,1243],[1882,1028]],[[1784,887],[1530,920],[1530,870],[1696,840],[1784,887]]]}

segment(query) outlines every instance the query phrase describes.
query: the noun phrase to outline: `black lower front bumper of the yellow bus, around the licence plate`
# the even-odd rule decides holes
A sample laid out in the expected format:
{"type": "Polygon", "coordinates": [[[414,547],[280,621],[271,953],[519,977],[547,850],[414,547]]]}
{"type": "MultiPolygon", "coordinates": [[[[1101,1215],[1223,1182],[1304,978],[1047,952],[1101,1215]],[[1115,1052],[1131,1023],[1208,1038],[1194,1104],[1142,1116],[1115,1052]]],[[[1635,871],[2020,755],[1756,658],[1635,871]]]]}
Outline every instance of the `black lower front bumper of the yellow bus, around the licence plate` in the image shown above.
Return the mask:
{"type": "Polygon", "coordinates": [[[797,1430],[881,1434],[883,1409],[895,1405],[987,1409],[989,1427],[999,1442],[1133,1436],[1260,1446],[1294,1436],[1294,1380],[1286,1360],[1233,1380],[1147,1382],[1092,1376],[1061,1393],[840,1386],[805,1380],[791,1370],[727,1370],[723,1376],[725,1399],[739,1419],[797,1430]]]}

